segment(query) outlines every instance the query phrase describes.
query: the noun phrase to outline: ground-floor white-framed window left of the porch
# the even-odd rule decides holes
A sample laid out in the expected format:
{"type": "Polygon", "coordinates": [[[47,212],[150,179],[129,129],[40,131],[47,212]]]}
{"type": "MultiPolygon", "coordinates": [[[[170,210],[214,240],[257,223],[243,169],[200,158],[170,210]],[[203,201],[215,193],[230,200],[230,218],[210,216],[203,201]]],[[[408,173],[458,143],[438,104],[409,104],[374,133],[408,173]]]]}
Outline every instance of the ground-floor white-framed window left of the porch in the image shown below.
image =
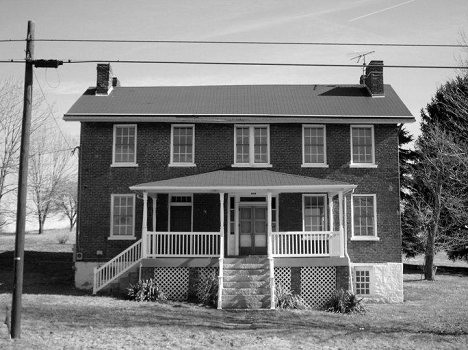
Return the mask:
{"type": "Polygon", "coordinates": [[[111,197],[111,239],[135,238],[135,195],[113,194],[111,197]]]}

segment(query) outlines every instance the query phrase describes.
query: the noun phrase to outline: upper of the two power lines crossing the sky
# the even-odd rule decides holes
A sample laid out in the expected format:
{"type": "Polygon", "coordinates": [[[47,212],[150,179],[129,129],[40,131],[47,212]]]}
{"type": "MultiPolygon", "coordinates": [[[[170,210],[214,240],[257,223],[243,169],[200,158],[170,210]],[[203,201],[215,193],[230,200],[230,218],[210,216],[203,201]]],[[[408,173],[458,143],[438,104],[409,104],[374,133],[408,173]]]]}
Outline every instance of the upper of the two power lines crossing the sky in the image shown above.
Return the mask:
{"type": "MultiPolygon", "coordinates": [[[[2,39],[0,42],[20,42],[26,39],[2,39]]],[[[344,42],[286,42],[286,41],[212,41],[212,40],[126,40],[126,39],[35,39],[36,42],[144,43],[144,44],[218,44],[218,45],[308,45],[308,46],[381,46],[381,47],[440,47],[468,48],[460,44],[404,43],[344,43],[344,42]]]]}

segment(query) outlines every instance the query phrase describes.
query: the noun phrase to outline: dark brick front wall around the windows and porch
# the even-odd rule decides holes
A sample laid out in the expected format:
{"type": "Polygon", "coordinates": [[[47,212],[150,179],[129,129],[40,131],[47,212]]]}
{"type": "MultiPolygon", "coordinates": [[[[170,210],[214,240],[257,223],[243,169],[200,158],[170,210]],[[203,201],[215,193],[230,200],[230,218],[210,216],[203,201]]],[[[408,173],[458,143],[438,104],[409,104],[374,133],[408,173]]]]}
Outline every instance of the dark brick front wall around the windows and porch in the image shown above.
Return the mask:
{"type": "MultiPolygon", "coordinates": [[[[398,137],[396,125],[374,127],[376,169],[352,169],[350,126],[327,125],[329,168],[302,168],[302,126],[270,126],[271,170],[304,176],[346,181],[357,185],[355,193],[377,195],[378,242],[351,241],[351,202],[347,200],[348,251],[353,262],[400,262],[400,219],[398,137]]],[[[168,123],[140,123],[137,130],[137,163],[134,168],[111,167],[113,125],[82,123],[81,215],[78,251],[84,260],[115,256],[133,241],[110,241],[111,194],[132,193],[130,186],[144,182],[187,176],[230,167],[234,162],[234,128],[225,124],[196,124],[196,167],[169,167],[171,126],[168,123]]],[[[227,206],[227,201],[226,201],[227,206]]],[[[152,203],[148,200],[148,228],[152,203]]],[[[158,195],[157,229],[167,230],[167,195],[158,195]]],[[[135,230],[141,235],[142,200],[136,200],[135,230]]],[[[302,195],[281,194],[280,230],[302,229],[302,195]]],[[[227,226],[227,222],[226,222],[227,226]]],[[[219,229],[219,195],[194,196],[194,229],[219,229]],[[200,206],[199,206],[200,204],[200,206]]]]}

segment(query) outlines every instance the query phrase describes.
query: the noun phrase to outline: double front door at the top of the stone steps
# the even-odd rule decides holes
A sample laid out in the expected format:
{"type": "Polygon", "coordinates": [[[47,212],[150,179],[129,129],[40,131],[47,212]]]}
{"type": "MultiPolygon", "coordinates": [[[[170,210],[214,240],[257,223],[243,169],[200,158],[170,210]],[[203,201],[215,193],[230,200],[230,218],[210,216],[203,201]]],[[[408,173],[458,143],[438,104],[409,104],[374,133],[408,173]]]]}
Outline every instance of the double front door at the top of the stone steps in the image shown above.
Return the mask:
{"type": "Polygon", "coordinates": [[[239,254],[267,254],[267,208],[239,207],[239,254]]]}

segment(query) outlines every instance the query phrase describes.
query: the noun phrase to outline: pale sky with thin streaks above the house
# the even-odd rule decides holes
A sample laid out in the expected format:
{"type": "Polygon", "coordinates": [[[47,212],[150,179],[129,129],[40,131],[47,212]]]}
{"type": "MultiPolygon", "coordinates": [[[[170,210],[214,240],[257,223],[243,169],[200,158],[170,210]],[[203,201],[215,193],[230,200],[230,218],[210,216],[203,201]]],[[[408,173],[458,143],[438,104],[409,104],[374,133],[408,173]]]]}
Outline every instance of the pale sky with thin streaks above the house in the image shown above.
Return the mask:
{"type": "MultiPolygon", "coordinates": [[[[466,0],[0,0],[0,40],[24,39],[28,20],[36,39],[128,39],[460,44],[468,34],[466,0]]],[[[0,42],[0,60],[24,59],[25,42],[0,42]]],[[[36,42],[36,59],[164,60],[353,64],[359,53],[387,65],[460,65],[460,48],[305,45],[195,45],[36,42]]],[[[360,62],[362,63],[362,61],[360,62]]],[[[124,64],[112,69],[122,86],[235,84],[356,84],[360,68],[124,64]]],[[[385,68],[416,117],[453,69],[385,68]]],[[[0,63],[0,80],[24,80],[24,65],[0,63]]],[[[35,69],[34,86],[53,105],[60,128],[79,134],[63,114],[96,84],[96,63],[35,69]]]]}

